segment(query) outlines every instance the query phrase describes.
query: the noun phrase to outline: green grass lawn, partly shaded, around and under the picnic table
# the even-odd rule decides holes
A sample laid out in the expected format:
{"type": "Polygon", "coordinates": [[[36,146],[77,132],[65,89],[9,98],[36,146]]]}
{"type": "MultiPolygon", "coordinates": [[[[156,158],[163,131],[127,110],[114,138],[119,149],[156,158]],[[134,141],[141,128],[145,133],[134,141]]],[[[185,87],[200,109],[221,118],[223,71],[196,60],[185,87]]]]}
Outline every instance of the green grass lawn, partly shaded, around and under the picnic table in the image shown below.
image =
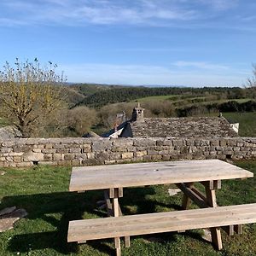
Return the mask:
{"type": "MultiPolygon", "coordinates": [[[[256,175],[256,160],[239,161],[256,175]]],[[[70,167],[37,166],[27,169],[0,169],[0,209],[23,207],[28,216],[14,230],[0,233],[0,255],[111,255],[113,241],[88,241],[67,244],[68,221],[79,218],[107,217],[96,201],[102,191],[69,193],[70,167]]],[[[181,193],[169,196],[169,185],[124,189],[120,205],[124,214],[176,211],[181,193]]],[[[256,202],[256,179],[224,181],[218,190],[218,204],[256,202]]],[[[195,207],[195,206],[193,206],[195,207]]],[[[224,249],[217,252],[201,238],[201,230],[131,237],[131,247],[123,255],[255,255],[256,224],[246,225],[241,236],[223,233],[224,249]]]]}

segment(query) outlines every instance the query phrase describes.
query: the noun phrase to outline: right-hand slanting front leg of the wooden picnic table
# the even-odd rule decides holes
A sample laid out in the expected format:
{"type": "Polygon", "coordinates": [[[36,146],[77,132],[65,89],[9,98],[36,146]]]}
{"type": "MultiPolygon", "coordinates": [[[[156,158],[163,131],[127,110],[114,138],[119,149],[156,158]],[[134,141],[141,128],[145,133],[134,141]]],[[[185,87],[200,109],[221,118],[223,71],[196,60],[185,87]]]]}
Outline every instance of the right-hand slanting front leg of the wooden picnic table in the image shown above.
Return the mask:
{"type": "MultiPolygon", "coordinates": [[[[207,202],[209,207],[218,207],[216,201],[216,193],[215,189],[210,189],[210,186],[206,186],[206,195],[207,195],[207,202]]],[[[221,250],[222,247],[222,240],[221,240],[221,233],[219,228],[211,228],[211,235],[212,235],[212,245],[217,250],[221,250]]]]}

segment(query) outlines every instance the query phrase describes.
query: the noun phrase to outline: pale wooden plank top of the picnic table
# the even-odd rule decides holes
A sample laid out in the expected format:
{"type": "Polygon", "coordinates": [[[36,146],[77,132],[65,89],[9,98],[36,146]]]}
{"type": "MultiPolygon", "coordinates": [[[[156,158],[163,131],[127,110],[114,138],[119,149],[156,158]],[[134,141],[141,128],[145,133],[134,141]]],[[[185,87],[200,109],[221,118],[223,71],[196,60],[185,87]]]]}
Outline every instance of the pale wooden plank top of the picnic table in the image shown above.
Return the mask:
{"type": "Polygon", "coordinates": [[[222,160],[183,160],[73,167],[70,191],[253,177],[222,160]]]}

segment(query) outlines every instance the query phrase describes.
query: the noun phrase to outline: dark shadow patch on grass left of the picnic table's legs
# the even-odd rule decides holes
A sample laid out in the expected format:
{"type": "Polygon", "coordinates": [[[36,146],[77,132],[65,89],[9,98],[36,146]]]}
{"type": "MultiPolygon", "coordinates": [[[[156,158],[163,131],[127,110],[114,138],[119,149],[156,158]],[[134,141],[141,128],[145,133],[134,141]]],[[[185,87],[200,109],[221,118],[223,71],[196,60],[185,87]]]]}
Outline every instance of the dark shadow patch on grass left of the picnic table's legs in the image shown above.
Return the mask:
{"type": "Polygon", "coordinates": [[[32,224],[26,223],[28,230],[42,230],[42,232],[12,236],[9,241],[9,251],[26,253],[33,249],[53,248],[64,254],[78,252],[79,247],[76,243],[67,243],[68,222],[83,218],[84,212],[98,217],[106,217],[106,213],[96,209],[96,201],[101,198],[101,191],[88,191],[80,194],[59,192],[4,197],[1,208],[9,206],[25,208],[28,212],[26,219],[35,220],[32,224]],[[55,213],[61,214],[61,219],[51,215],[55,213]],[[46,224],[46,228],[44,224],[40,226],[42,220],[50,224],[51,230],[54,231],[45,231],[49,230],[49,225],[46,224]]]}

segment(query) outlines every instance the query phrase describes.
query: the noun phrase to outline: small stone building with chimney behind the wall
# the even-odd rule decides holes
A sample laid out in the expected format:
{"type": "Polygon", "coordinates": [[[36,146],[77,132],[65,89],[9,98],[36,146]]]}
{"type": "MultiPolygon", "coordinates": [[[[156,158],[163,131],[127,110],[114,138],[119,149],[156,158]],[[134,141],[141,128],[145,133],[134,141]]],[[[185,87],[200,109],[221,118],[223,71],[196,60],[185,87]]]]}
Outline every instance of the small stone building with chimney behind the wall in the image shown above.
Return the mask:
{"type": "Polygon", "coordinates": [[[238,137],[224,117],[144,118],[138,104],[131,120],[103,137],[238,137]]]}

